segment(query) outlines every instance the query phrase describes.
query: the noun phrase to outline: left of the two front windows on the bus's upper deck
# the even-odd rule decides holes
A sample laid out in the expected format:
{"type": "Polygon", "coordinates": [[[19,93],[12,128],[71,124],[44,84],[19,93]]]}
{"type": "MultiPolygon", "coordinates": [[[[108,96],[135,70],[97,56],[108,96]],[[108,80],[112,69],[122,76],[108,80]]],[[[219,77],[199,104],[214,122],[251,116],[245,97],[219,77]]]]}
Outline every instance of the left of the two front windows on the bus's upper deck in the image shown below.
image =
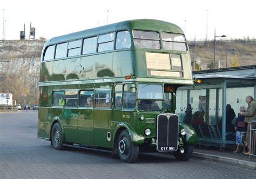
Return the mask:
{"type": "Polygon", "coordinates": [[[133,30],[133,39],[137,48],[160,49],[158,32],[133,30]]]}

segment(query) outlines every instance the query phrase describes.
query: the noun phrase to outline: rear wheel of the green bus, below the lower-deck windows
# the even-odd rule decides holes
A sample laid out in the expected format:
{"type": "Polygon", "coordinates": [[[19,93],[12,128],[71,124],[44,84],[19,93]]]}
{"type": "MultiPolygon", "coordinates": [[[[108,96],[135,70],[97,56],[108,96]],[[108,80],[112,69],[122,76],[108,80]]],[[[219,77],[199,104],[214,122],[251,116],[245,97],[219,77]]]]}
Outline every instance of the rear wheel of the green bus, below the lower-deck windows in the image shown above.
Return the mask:
{"type": "Polygon", "coordinates": [[[57,150],[64,149],[62,140],[62,127],[60,127],[59,123],[55,123],[52,127],[51,143],[52,146],[57,150]]]}

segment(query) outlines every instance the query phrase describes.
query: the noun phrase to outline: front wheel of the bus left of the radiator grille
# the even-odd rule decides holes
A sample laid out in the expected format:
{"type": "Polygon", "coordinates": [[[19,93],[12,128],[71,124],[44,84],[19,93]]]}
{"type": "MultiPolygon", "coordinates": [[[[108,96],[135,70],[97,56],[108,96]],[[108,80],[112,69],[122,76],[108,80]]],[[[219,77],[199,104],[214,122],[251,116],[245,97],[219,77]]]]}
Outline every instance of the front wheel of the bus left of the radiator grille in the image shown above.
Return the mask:
{"type": "Polygon", "coordinates": [[[120,159],[124,162],[133,163],[138,158],[139,146],[132,144],[129,132],[127,130],[123,130],[120,133],[117,149],[120,159]]]}

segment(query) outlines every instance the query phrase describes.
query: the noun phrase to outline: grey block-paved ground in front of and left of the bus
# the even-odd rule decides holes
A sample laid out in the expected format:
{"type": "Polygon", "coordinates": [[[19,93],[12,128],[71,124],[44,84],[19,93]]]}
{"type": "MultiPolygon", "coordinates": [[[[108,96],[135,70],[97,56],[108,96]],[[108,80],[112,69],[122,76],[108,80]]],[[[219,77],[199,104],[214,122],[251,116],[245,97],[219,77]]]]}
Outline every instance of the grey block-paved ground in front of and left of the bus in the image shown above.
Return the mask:
{"type": "Polygon", "coordinates": [[[256,178],[255,170],[166,154],[140,154],[127,164],[106,152],[56,151],[36,136],[37,112],[0,113],[1,178],[256,178]]]}

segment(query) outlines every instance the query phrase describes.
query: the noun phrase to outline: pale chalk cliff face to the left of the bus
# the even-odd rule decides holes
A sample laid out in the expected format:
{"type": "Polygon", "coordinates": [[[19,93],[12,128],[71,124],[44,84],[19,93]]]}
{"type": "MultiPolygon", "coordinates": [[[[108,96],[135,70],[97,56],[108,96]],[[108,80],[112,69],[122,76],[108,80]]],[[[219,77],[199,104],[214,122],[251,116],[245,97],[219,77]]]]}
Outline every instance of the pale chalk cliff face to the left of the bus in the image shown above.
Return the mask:
{"type": "MultiPolygon", "coordinates": [[[[9,84],[11,79],[8,80],[8,77],[17,77],[18,83],[29,89],[31,95],[37,94],[44,44],[45,41],[39,40],[0,40],[0,92],[15,93],[8,88],[9,85],[14,85],[9,84]]],[[[29,94],[27,96],[29,98],[29,94]]],[[[14,100],[18,98],[14,94],[14,100]]]]}

